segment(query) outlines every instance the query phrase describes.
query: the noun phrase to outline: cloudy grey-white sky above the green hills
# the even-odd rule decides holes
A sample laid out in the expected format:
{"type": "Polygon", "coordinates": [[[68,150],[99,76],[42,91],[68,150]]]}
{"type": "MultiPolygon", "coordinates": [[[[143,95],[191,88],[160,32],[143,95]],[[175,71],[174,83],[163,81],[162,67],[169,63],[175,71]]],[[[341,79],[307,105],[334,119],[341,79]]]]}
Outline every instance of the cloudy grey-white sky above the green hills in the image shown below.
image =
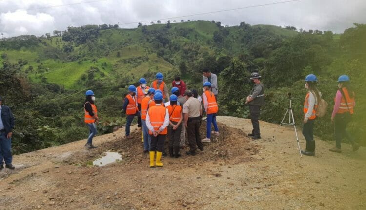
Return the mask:
{"type": "Polygon", "coordinates": [[[366,0],[0,0],[0,35],[42,35],[67,26],[121,24],[133,28],[138,21],[163,20],[226,9],[228,12],[170,20],[215,20],[223,25],[291,25],[304,30],[342,33],[353,23],[366,23],[366,0]],[[251,7],[257,6],[257,7],[251,7]]]}

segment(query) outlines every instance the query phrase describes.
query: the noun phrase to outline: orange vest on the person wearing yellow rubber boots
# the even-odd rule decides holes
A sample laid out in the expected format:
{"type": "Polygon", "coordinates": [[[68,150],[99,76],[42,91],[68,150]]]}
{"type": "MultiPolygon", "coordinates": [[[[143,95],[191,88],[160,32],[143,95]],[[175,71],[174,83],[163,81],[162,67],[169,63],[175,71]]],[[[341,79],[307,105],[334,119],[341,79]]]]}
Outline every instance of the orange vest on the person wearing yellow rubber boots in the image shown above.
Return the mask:
{"type": "MultiPolygon", "coordinates": [[[[150,107],[147,112],[149,113],[150,123],[154,127],[154,130],[159,130],[159,128],[164,124],[166,108],[162,105],[155,105],[150,107]]],[[[159,134],[166,135],[167,133],[168,129],[165,127],[165,129],[159,134]]],[[[149,130],[149,134],[152,135],[153,133],[149,130]]]]}

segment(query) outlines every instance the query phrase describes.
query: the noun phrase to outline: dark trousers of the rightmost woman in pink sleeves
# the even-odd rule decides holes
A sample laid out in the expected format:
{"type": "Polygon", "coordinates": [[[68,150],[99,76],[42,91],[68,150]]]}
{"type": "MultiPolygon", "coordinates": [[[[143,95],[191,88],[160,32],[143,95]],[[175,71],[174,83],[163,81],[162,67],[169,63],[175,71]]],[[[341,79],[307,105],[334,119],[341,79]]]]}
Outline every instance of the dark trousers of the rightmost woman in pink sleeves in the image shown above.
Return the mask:
{"type": "Polygon", "coordinates": [[[346,127],[351,120],[352,116],[349,112],[336,114],[334,118],[334,139],[336,141],[336,147],[339,149],[341,148],[343,138],[348,139],[352,145],[355,143],[354,138],[346,131],[346,127]]]}

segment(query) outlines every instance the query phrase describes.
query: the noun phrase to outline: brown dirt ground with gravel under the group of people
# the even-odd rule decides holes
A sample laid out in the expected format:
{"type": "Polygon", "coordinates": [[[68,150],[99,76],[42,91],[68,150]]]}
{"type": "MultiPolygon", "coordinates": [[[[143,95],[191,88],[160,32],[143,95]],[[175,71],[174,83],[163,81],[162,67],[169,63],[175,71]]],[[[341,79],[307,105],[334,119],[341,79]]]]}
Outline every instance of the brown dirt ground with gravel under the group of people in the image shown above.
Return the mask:
{"type": "Polygon", "coordinates": [[[123,129],[96,137],[95,150],[82,140],[16,155],[17,169],[0,172],[0,209],[366,209],[365,147],[352,152],[345,144],[337,154],[316,139],[316,156],[301,158],[291,127],[261,122],[263,139],[251,141],[249,120],[218,122],[220,136],[204,151],[165,157],[163,168],[148,167],[136,127],[132,140],[123,129]],[[108,150],[122,161],[87,165],[108,150]]]}

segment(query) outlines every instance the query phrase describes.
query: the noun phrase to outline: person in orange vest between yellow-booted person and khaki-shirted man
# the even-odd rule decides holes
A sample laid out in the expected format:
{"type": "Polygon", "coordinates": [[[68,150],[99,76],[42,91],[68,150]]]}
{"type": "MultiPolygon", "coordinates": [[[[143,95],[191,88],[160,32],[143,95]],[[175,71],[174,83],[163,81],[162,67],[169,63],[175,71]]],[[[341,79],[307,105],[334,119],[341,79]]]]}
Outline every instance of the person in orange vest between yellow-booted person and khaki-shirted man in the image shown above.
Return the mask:
{"type": "Polygon", "coordinates": [[[168,139],[169,139],[169,155],[170,157],[179,158],[179,144],[181,142],[182,130],[182,106],[177,105],[178,97],[171,95],[169,98],[170,105],[166,108],[169,113],[168,139]]]}

